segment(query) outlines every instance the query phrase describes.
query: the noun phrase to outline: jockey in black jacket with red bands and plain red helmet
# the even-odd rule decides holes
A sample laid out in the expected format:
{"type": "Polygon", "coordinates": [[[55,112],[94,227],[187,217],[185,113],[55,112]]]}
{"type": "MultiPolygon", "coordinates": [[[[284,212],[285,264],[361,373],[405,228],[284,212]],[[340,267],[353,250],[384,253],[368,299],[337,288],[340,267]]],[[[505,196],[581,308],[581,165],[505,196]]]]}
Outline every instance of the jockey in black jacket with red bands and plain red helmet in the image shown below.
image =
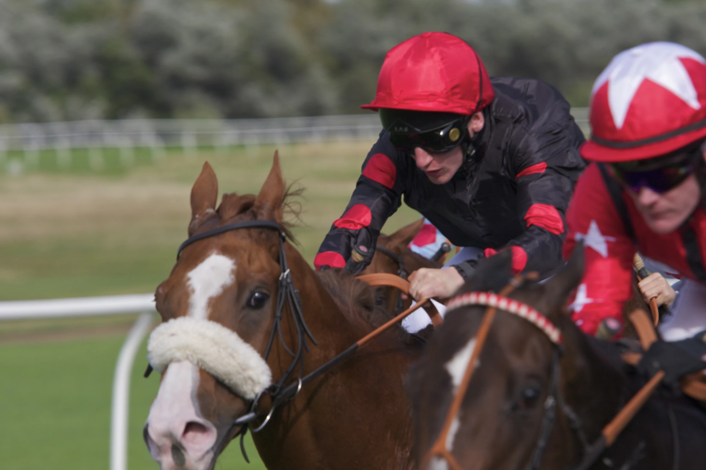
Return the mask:
{"type": "Polygon", "coordinates": [[[425,32],[385,57],[376,99],[383,131],[314,266],[361,271],[385,221],[405,204],[453,245],[453,267],[420,269],[413,297],[449,297],[479,256],[513,252],[513,271],[561,264],[564,214],[585,167],[582,132],[544,82],[489,78],[458,37],[425,32]]]}

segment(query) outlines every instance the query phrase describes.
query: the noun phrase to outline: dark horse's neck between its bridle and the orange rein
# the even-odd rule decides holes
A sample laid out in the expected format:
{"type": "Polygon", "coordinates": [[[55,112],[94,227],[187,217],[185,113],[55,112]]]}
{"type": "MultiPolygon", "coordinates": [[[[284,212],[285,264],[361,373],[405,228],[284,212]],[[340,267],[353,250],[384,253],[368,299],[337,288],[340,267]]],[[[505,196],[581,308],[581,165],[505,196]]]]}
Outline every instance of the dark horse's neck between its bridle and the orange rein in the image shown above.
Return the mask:
{"type": "Polygon", "coordinates": [[[618,364],[594,349],[589,338],[566,320],[562,363],[564,400],[578,413],[589,439],[595,439],[626,400],[628,382],[618,364]]]}

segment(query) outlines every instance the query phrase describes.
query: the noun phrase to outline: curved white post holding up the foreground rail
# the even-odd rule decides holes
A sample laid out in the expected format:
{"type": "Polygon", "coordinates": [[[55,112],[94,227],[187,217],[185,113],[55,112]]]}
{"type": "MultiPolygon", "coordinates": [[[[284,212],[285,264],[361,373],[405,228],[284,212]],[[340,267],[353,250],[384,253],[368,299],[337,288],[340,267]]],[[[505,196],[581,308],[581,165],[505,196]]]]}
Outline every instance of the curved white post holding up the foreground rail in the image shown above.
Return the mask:
{"type": "Polygon", "coordinates": [[[128,468],[128,409],[130,406],[130,374],[138,347],[152,326],[152,313],[140,315],[128,333],[115,364],[113,402],[110,419],[110,470],[128,468]]]}

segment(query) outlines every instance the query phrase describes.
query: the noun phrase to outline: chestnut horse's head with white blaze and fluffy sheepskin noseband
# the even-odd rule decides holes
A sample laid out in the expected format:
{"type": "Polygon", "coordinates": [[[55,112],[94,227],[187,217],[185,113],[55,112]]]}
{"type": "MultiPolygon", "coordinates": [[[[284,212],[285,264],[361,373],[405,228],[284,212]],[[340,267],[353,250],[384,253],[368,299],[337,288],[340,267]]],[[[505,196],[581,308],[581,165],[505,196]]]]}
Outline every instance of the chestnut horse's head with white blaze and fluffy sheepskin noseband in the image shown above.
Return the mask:
{"type": "MultiPolygon", "coordinates": [[[[208,163],[191,190],[189,237],[242,221],[282,221],[285,185],[275,161],[257,196],[224,194],[208,163]]],[[[233,421],[270,385],[263,356],[280,279],[280,233],[239,228],[184,247],[155,294],[163,323],[148,345],[162,373],[145,423],[150,454],[166,469],[210,469],[239,430],[233,421]]],[[[286,335],[286,333],[285,333],[286,335]]]]}

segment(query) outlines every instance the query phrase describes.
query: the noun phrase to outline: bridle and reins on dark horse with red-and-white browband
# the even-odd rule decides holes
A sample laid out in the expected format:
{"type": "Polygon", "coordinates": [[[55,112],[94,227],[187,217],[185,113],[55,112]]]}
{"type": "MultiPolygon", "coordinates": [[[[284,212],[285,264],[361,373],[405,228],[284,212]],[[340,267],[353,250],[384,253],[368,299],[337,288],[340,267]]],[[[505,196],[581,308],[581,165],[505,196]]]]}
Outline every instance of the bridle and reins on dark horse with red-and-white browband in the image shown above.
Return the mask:
{"type": "MultiPolygon", "coordinates": [[[[484,343],[488,336],[489,330],[491,328],[491,323],[493,322],[497,309],[501,309],[502,311],[506,311],[510,314],[519,316],[522,319],[530,321],[530,323],[534,324],[534,326],[537,326],[537,328],[539,328],[539,330],[541,330],[542,333],[544,333],[546,337],[549,338],[552,345],[554,346],[552,352],[551,372],[549,379],[549,392],[546,399],[544,400],[544,418],[542,419],[542,427],[539,431],[539,438],[537,440],[537,444],[535,445],[534,451],[532,452],[530,462],[528,462],[526,467],[527,470],[537,470],[539,469],[539,465],[542,463],[542,456],[544,454],[544,451],[546,450],[546,445],[549,442],[549,436],[551,435],[551,430],[554,426],[554,421],[556,421],[557,404],[559,407],[561,407],[563,414],[568,420],[570,428],[572,428],[577,440],[579,441],[582,447],[582,459],[578,462],[578,464],[570,468],[572,470],[587,470],[590,469],[590,467],[597,461],[597,459],[599,459],[604,450],[606,450],[606,448],[610,447],[615,442],[616,438],[618,438],[618,434],[621,433],[621,431],[623,431],[623,428],[625,428],[625,426],[628,425],[630,420],[633,419],[635,414],[637,414],[640,408],[642,408],[642,405],[645,404],[650,395],[652,395],[654,389],[657,388],[657,385],[659,385],[659,383],[662,381],[662,378],[664,377],[664,371],[659,371],[654,376],[652,376],[652,378],[650,378],[650,381],[643,385],[642,388],[637,393],[635,393],[632,398],[630,398],[628,403],[618,412],[618,414],[616,414],[614,419],[612,419],[606,426],[604,426],[601,434],[599,435],[599,438],[597,438],[597,440],[595,440],[593,443],[588,443],[578,414],[576,414],[573,409],[571,409],[568,404],[563,401],[563,398],[561,397],[561,393],[558,388],[559,373],[561,371],[559,359],[561,358],[561,354],[563,353],[561,333],[559,332],[558,328],[554,326],[554,324],[551,323],[551,321],[549,321],[546,316],[540,314],[539,311],[535,310],[527,304],[523,304],[522,302],[517,302],[517,300],[509,299],[508,297],[506,297],[510,292],[515,290],[516,287],[522,285],[525,280],[536,278],[537,273],[528,273],[527,277],[518,275],[512,278],[510,280],[510,283],[503,287],[503,289],[497,295],[491,292],[468,292],[466,294],[454,297],[448,302],[447,311],[472,305],[485,306],[486,310],[484,312],[481,325],[476,335],[476,345],[472,352],[471,358],[468,361],[468,365],[466,366],[462,381],[455,392],[451,405],[445,416],[441,432],[434,441],[433,445],[431,445],[430,450],[424,455],[424,459],[422,460],[420,468],[426,468],[431,462],[431,459],[433,459],[434,457],[440,457],[442,459],[445,459],[450,469],[462,470],[462,467],[456,461],[455,457],[453,457],[453,454],[451,454],[450,450],[447,449],[446,438],[455,417],[460,411],[462,400],[468,390],[473,371],[474,369],[476,369],[476,366],[478,364],[478,358],[480,356],[481,350],[483,349],[484,343]]],[[[647,350],[650,344],[657,340],[657,335],[652,329],[650,319],[647,318],[647,314],[644,311],[638,310],[630,315],[630,320],[635,323],[635,327],[638,330],[638,334],[640,335],[640,340],[642,342],[643,349],[647,350]]],[[[623,360],[628,362],[628,364],[636,364],[637,361],[639,361],[640,359],[639,356],[639,354],[629,353],[623,355],[623,360]]],[[[692,375],[696,376],[702,374],[698,373],[692,375]]],[[[685,390],[688,395],[691,395],[693,397],[698,397],[698,395],[704,395],[703,393],[699,394],[696,392],[695,389],[699,387],[698,385],[695,385],[694,382],[695,380],[691,380],[686,381],[686,383],[683,383],[683,385],[690,384],[692,393],[688,392],[688,387],[686,386],[683,386],[683,390],[685,390]]],[[[702,396],[700,397],[700,399],[703,400],[704,397],[702,396]]],[[[629,469],[631,468],[632,464],[635,463],[636,462],[627,462],[626,466],[623,466],[623,468],[629,469]]]]}

